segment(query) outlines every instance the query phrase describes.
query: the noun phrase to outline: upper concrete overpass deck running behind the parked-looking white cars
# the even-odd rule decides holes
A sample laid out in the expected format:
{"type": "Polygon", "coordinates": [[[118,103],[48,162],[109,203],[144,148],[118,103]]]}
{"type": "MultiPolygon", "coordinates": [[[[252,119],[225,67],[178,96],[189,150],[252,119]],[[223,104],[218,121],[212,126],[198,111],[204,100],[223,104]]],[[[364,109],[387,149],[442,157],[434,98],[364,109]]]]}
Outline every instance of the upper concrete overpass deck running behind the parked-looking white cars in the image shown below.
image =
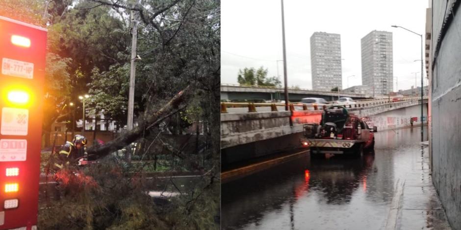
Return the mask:
{"type": "MultiPolygon", "coordinates": [[[[342,93],[339,92],[340,97],[352,97],[353,99],[371,98],[371,95],[358,94],[358,93],[342,93]]],[[[305,97],[320,97],[327,101],[338,99],[337,92],[323,92],[313,90],[288,90],[288,98],[290,101],[301,101],[305,97]]],[[[386,97],[387,96],[382,96],[386,97]]],[[[251,100],[251,99],[264,99],[284,100],[283,88],[272,86],[250,86],[238,84],[221,84],[221,100],[251,100]]]]}

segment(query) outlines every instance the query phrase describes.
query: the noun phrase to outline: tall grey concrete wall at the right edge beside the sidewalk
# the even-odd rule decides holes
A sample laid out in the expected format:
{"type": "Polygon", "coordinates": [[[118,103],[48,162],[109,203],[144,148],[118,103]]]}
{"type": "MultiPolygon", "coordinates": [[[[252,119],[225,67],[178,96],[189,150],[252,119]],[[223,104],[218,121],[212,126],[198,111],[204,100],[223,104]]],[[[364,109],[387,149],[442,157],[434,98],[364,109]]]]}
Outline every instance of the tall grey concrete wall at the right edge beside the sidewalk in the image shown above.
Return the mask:
{"type": "Polygon", "coordinates": [[[430,144],[435,188],[450,225],[461,230],[461,16],[460,1],[451,3],[433,2],[430,144]]]}

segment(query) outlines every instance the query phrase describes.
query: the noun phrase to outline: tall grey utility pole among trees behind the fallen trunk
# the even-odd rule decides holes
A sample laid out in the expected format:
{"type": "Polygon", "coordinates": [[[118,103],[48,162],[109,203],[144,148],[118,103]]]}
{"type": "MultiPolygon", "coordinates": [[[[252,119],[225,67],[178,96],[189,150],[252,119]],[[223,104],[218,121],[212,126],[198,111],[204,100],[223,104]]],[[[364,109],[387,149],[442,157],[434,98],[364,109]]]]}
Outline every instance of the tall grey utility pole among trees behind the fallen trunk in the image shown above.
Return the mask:
{"type": "Polygon", "coordinates": [[[129,70],[128,120],[127,120],[128,130],[133,129],[134,78],[135,78],[135,72],[136,72],[136,66],[134,64],[134,60],[136,59],[136,40],[138,36],[138,22],[134,20],[134,14],[135,12],[131,10],[130,21],[133,23],[133,28],[131,30],[133,37],[131,38],[131,66],[129,70]]]}

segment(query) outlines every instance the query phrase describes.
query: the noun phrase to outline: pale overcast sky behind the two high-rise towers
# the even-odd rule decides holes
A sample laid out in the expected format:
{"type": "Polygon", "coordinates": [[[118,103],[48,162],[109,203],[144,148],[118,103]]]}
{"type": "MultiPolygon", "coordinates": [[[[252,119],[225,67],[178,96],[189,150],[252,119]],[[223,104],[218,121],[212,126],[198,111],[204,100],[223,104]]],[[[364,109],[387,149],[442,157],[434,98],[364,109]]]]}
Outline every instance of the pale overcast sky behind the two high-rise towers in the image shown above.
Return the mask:
{"type": "MultiPolygon", "coordinates": [[[[428,0],[284,0],[288,86],[312,89],[310,36],[316,31],[341,35],[343,89],[351,75],[349,87],[361,85],[360,39],[384,30],[393,36],[398,89],[410,89],[415,84],[411,72],[421,71],[421,62],[414,62],[421,56],[421,39],[390,25],[424,34],[428,7],[428,0]]],[[[276,60],[283,59],[280,0],[221,0],[221,23],[221,83],[236,84],[238,70],[245,67],[264,66],[269,76],[277,75],[276,60]]],[[[420,86],[420,73],[417,78],[420,86]]]]}

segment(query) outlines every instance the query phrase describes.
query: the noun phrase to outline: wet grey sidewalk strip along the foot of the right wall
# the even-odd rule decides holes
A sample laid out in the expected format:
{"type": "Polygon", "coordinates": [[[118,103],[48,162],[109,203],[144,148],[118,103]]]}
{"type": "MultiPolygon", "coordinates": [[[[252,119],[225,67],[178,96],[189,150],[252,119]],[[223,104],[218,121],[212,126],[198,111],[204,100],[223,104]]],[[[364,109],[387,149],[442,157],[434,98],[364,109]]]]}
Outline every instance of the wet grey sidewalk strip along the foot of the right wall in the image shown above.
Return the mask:
{"type": "Polygon", "coordinates": [[[414,169],[405,178],[399,178],[392,199],[386,230],[451,230],[429,169],[429,153],[424,146],[423,155],[414,162],[414,169]]]}

